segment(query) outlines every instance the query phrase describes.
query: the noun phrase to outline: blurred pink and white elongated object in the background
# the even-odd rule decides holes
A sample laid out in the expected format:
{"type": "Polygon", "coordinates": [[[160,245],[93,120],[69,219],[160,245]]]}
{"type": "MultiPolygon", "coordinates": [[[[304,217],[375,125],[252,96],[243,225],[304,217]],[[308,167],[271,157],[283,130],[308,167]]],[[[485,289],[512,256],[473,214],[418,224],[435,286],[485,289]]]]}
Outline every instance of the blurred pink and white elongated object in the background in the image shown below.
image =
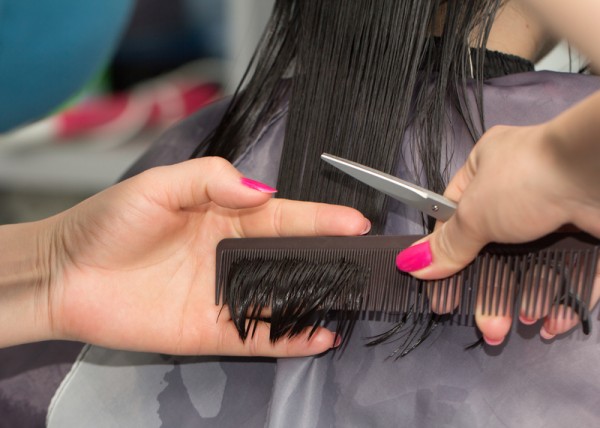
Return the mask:
{"type": "Polygon", "coordinates": [[[162,129],[221,96],[218,83],[176,73],[129,92],[90,97],[56,115],[0,136],[1,148],[100,141],[115,146],[162,129]]]}

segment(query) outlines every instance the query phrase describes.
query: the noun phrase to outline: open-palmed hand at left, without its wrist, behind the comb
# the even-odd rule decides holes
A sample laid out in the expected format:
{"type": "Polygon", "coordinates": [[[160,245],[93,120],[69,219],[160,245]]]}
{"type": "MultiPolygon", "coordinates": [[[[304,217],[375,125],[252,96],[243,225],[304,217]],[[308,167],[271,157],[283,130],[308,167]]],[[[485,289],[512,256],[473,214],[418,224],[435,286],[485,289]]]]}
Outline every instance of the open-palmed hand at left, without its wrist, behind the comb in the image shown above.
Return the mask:
{"type": "Polygon", "coordinates": [[[53,338],[171,354],[300,356],[333,347],[325,329],[271,344],[264,323],[243,343],[215,305],[221,239],[369,228],[353,209],[270,193],[223,159],[204,158],[149,170],[49,219],[53,271],[38,304],[51,309],[53,338]]]}

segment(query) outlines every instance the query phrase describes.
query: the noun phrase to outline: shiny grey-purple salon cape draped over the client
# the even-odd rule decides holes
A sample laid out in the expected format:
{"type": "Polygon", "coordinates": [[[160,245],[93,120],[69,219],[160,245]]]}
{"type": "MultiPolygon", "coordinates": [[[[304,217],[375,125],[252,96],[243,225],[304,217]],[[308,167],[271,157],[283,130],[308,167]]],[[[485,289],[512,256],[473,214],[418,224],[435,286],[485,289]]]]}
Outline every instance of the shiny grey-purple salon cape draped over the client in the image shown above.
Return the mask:
{"type": "MultiPolygon", "coordinates": [[[[596,77],[530,72],[484,85],[486,126],[546,121],[600,89],[596,77]]],[[[215,126],[217,103],[166,133],[128,175],[186,160],[215,126]]],[[[286,106],[235,162],[276,184],[286,106]]],[[[472,142],[454,118],[453,171],[472,142]]],[[[524,142],[526,143],[526,142],[524,142]]],[[[506,165],[510,168],[510,165],[506,165]]],[[[398,162],[397,174],[407,175],[398,162]]],[[[202,171],[199,171],[201,174],[202,171]]],[[[387,234],[422,233],[419,213],[392,203],[387,234]]],[[[516,326],[499,347],[465,350],[474,327],[444,325],[401,360],[386,331],[358,322],[344,353],[310,358],[172,357],[87,346],[54,397],[50,428],[85,427],[584,427],[600,421],[600,325],[551,343],[516,326]]],[[[148,322],[161,322],[148,314],[148,322]]]]}

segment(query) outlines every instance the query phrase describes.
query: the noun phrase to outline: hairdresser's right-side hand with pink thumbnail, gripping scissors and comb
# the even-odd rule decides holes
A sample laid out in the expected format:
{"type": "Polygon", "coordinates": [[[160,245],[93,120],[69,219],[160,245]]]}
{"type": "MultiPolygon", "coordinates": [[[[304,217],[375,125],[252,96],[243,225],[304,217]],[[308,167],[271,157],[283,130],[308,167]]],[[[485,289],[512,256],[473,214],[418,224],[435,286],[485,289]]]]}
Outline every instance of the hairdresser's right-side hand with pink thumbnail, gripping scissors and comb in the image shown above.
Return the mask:
{"type": "MultiPolygon", "coordinates": [[[[600,237],[600,168],[567,159],[549,126],[496,127],[487,132],[445,192],[459,202],[456,214],[401,253],[399,267],[419,278],[443,278],[465,267],[489,242],[531,241],[569,223],[600,237]]],[[[600,276],[594,304],[599,297],[600,276]]],[[[448,312],[455,304],[442,305],[434,298],[433,309],[448,312]]],[[[545,317],[544,338],[577,324],[576,318],[546,315],[521,316],[521,321],[534,323],[545,317]]],[[[483,315],[481,305],[476,321],[492,345],[504,340],[512,324],[510,317],[483,315]]]]}

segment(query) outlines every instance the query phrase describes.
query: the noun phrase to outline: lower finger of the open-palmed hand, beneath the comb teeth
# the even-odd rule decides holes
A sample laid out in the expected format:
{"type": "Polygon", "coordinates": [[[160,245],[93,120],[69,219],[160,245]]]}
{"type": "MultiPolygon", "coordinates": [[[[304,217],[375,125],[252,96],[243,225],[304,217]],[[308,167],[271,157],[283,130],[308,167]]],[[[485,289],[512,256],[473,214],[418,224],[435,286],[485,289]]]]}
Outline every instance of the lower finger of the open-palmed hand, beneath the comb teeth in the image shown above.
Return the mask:
{"type": "Polygon", "coordinates": [[[262,357],[304,357],[325,352],[336,345],[340,339],[335,333],[319,327],[309,337],[310,328],[293,338],[283,338],[275,343],[269,339],[269,324],[261,322],[251,337],[242,341],[233,323],[223,325],[220,330],[216,355],[262,356],[262,357]],[[336,342],[337,341],[337,342],[336,342]]]}

